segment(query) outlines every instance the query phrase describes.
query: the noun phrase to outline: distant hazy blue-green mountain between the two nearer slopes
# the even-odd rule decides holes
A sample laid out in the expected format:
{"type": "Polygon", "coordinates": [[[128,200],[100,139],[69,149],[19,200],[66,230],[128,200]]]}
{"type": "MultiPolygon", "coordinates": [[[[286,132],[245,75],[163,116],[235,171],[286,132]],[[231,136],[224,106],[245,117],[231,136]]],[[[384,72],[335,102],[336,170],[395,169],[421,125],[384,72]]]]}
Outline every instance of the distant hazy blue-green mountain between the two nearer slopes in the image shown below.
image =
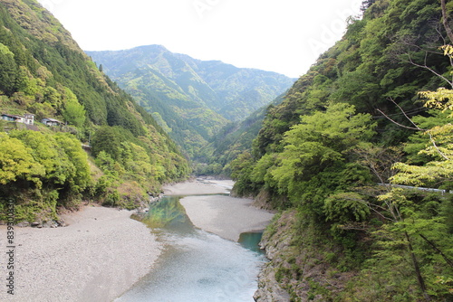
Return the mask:
{"type": "Polygon", "coordinates": [[[246,118],[294,83],[275,72],[200,61],[160,45],[87,53],[196,159],[229,121],[246,118]]]}

